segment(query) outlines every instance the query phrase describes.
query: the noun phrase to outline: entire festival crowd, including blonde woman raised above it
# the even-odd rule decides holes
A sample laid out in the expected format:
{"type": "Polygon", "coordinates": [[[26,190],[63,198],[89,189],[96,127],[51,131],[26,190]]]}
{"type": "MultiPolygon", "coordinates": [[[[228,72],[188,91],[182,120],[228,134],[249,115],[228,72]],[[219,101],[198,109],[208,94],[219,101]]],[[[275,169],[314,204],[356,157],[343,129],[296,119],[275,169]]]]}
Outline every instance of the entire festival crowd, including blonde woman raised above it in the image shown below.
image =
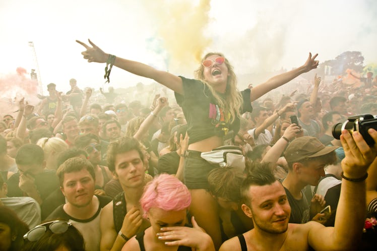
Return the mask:
{"type": "Polygon", "coordinates": [[[222,53],[187,79],[77,42],[162,91],[71,79],[0,114],[0,250],[375,250],[377,122],[332,131],[377,114],[377,77],[275,97],[318,54],[238,90],[222,53]]]}

